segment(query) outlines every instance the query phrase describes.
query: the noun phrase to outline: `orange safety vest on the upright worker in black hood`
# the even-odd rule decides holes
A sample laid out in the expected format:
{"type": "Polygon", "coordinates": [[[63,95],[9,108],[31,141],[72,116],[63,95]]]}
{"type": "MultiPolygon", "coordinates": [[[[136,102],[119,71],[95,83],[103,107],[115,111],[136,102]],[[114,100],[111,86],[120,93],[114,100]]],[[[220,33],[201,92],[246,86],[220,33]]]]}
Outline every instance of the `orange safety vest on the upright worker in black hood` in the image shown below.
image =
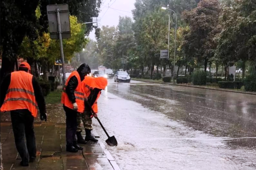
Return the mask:
{"type": "Polygon", "coordinates": [[[83,113],[84,112],[84,89],[82,88],[81,79],[77,71],[72,72],[68,77],[62,92],[61,103],[64,104],[66,107],[73,109],[73,104],[68,99],[68,94],[66,93],[66,86],[68,85],[68,81],[73,76],[76,76],[78,80],[78,85],[75,89],[76,104],[78,107],[77,112],[83,113]]]}

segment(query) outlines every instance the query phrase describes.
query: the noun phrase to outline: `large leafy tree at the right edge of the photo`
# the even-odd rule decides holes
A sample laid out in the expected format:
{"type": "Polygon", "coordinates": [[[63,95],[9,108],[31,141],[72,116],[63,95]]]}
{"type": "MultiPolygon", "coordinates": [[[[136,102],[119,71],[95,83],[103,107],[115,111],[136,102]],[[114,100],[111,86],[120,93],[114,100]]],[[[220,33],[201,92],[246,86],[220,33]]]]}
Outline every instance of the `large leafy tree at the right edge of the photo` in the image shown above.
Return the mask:
{"type": "Polygon", "coordinates": [[[256,61],[256,2],[241,0],[224,6],[220,20],[223,28],[215,55],[227,64],[243,61],[244,78],[245,62],[256,61]]]}

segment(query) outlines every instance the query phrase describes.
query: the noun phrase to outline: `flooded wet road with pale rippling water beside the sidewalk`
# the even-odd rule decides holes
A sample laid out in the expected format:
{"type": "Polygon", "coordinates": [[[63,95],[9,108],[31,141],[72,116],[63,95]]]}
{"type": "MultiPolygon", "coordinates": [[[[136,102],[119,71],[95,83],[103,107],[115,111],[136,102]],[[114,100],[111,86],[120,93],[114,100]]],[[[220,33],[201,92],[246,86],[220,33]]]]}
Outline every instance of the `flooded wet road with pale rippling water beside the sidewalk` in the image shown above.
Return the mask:
{"type": "Polygon", "coordinates": [[[98,104],[122,170],[256,168],[256,96],[109,80],[98,104]]]}

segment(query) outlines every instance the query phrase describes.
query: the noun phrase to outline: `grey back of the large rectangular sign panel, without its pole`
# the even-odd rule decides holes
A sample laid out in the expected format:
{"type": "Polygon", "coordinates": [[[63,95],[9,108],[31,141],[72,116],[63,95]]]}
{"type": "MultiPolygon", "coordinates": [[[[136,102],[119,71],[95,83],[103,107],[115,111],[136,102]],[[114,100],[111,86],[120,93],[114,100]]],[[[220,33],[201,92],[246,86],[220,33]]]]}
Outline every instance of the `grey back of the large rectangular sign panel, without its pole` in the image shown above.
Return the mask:
{"type": "Polygon", "coordinates": [[[59,39],[57,9],[60,13],[62,39],[68,39],[71,37],[68,4],[47,5],[50,38],[59,39]]]}

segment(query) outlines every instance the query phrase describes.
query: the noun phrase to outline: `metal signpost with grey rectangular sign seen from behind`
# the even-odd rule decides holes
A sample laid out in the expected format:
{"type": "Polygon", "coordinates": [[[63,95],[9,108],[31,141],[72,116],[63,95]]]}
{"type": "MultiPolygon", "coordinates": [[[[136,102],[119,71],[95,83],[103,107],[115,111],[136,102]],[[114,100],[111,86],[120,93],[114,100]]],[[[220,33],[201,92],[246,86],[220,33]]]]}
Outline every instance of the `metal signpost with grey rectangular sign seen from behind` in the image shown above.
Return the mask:
{"type": "Polygon", "coordinates": [[[68,39],[71,37],[68,4],[47,5],[47,17],[51,39],[60,40],[60,54],[64,87],[66,81],[66,71],[62,39],[68,39]]]}

